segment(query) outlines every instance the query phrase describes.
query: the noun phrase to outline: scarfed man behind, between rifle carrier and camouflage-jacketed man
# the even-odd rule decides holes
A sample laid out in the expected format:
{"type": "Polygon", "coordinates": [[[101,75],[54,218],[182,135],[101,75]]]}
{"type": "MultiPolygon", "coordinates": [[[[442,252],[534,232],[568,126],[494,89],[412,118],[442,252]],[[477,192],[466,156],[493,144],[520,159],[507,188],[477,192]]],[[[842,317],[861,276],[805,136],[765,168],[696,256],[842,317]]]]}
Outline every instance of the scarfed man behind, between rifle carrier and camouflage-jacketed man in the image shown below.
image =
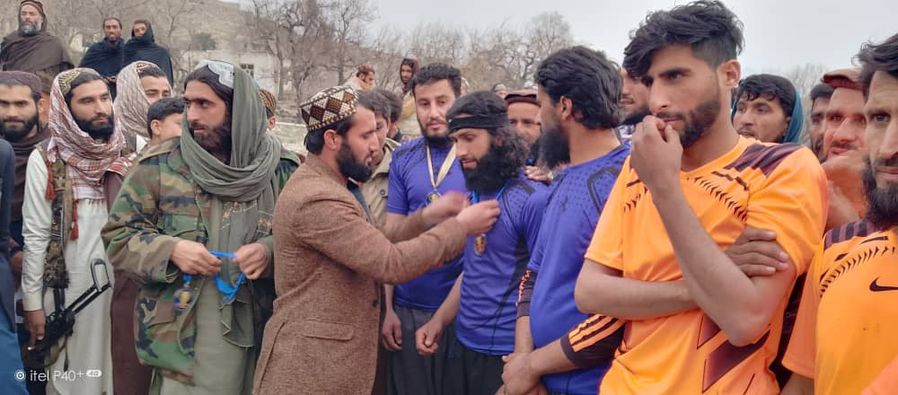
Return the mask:
{"type": "MultiPolygon", "coordinates": [[[[134,159],[148,144],[147,112],[150,104],[171,96],[168,79],[156,65],[137,61],[118,73],[119,95],[115,98],[116,129],[125,137],[125,146],[134,159]]],[[[110,211],[133,162],[120,163],[106,170],[106,202],[110,211]]],[[[116,394],[143,394],[150,387],[152,369],[143,366],[134,351],[134,303],[140,285],[124,270],[115,270],[112,299],[113,385],[116,394]]]]}

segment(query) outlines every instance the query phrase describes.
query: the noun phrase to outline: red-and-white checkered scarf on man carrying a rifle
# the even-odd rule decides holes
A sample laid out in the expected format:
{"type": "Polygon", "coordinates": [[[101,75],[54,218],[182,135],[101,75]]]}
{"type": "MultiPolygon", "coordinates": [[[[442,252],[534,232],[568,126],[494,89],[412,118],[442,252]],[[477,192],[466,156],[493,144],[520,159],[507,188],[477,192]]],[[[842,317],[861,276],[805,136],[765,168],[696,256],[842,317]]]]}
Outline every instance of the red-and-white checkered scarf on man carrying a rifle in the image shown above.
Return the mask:
{"type": "Polygon", "coordinates": [[[50,164],[58,158],[66,163],[75,200],[103,201],[103,174],[121,157],[125,139],[116,130],[108,142],[96,141],[78,127],[65,95],[71,90],[72,81],[84,73],[99,75],[91,69],[76,68],[60,73],[53,80],[47,159],[50,164]]]}

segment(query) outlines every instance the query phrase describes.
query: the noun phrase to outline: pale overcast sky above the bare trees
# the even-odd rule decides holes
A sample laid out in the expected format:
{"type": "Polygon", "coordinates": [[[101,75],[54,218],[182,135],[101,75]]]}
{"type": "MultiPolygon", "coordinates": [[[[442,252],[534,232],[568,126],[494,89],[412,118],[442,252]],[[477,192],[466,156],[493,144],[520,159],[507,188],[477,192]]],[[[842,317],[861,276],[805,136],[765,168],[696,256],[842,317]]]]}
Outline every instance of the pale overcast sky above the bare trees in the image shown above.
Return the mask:
{"type": "MultiPolygon", "coordinates": [[[[484,28],[507,21],[521,26],[531,17],[558,11],[571,24],[574,40],[623,57],[629,32],[650,10],[669,9],[672,0],[371,0],[375,26],[409,31],[422,22],[484,28]]],[[[849,66],[864,41],[898,33],[898,0],[725,0],[745,25],[743,73],[775,72],[816,63],[849,66]]]]}

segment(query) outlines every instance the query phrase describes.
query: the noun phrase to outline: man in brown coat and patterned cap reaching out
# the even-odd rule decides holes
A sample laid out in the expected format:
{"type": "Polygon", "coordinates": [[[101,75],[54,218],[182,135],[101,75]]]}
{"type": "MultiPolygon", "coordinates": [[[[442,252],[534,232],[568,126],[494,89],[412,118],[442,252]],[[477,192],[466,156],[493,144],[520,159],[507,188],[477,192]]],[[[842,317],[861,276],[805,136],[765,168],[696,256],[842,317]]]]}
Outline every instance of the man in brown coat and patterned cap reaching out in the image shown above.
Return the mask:
{"type": "Polygon", "coordinates": [[[492,227],[499,207],[464,207],[463,195],[446,194],[409,216],[396,232],[406,241],[394,244],[371,224],[356,184],[371,176],[372,154],[381,149],[374,113],[356,107],[349,87],[319,92],[300,107],[310,155],[275,208],[279,297],[254,392],[371,393],[378,283],[408,281],[457,256],[468,235],[492,227]]]}

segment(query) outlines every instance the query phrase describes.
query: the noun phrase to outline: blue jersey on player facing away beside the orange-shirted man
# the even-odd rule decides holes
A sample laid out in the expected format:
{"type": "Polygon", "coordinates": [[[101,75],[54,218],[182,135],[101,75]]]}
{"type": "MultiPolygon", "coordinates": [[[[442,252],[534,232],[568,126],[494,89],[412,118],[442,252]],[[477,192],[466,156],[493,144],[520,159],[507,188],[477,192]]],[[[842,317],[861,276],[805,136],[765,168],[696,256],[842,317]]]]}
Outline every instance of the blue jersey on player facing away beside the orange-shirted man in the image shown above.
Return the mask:
{"type": "MultiPolygon", "coordinates": [[[[589,162],[570,166],[555,177],[549,192],[536,250],[528,268],[537,273],[530,300],[530,331],[543,347],[588,317],[577,309],[574,286],[586,248],[614,181],[630,154],[630,145],[589,162]]],[[[595,394],[607,366],[543,376],[550,392],[595,394]]]]}

